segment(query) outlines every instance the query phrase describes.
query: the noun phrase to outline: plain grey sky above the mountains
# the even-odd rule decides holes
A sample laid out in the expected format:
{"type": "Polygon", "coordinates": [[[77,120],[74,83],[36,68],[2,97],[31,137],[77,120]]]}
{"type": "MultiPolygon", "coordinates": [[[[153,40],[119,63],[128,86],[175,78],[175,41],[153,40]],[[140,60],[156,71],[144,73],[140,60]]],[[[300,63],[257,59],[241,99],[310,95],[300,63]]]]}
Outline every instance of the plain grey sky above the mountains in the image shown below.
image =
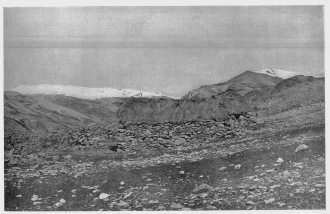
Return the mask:
{"type": "Polygon", "coordinates": [[[4,46],[5,89],[183,96],[246,70],[324,75],[321,6],[4,8],[4,46]]]}

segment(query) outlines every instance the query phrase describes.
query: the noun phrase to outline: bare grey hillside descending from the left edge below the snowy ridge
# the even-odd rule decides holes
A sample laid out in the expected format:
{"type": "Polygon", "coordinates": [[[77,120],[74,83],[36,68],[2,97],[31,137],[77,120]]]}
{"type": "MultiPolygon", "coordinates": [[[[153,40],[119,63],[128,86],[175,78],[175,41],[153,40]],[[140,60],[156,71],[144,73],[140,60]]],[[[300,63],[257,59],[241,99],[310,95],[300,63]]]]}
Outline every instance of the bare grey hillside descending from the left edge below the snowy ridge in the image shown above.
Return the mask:
{"type": "Polygon", "coordinates": [[[17,92],[4,94],[5,132],[54,131],[78,127],[92,120],[72,109],[36,101],[17,92]]]}

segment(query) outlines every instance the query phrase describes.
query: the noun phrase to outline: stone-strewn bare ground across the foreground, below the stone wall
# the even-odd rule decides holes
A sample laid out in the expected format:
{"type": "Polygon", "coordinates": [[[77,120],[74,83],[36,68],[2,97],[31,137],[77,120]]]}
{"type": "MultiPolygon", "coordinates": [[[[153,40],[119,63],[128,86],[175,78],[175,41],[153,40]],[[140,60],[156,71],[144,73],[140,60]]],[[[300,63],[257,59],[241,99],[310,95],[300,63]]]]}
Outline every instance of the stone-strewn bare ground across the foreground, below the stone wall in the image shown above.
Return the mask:
{"type": "Polygon", "coordinates": [[[324,123],[176,150],[59,151],[5,171],[5,210],[220,209],[325,209],[324,123]]]}

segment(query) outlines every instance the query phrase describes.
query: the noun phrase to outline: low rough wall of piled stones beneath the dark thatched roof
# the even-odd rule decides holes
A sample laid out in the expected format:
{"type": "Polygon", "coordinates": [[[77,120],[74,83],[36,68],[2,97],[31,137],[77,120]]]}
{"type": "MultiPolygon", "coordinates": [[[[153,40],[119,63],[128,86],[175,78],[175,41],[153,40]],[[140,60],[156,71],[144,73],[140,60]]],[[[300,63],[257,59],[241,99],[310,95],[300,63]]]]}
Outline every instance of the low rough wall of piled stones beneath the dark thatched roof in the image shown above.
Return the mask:
{"type": "Polygon", "coordinates": [[[109,125],[76,129],[69,133],[70,145],[84,149],[88,146],[131,150],[187,146],[216,142],[243,135],[257,129],[257,115],[253,112],[231,114],[222,121],[190,121],[183,123],[109,125]]]}

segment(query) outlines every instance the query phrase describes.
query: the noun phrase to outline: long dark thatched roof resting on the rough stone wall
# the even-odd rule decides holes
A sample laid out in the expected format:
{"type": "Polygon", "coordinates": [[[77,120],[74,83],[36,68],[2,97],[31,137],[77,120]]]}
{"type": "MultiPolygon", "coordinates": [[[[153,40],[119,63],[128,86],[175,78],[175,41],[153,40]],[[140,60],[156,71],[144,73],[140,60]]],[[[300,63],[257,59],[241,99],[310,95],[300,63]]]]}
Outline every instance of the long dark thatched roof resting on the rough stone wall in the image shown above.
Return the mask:
{"type": "Polygon", "coordinates": [[[164,123],[184,121],[221,121],[229,114],[250,111],[249,105],[233,90],[211,98],[147,99],[130,98],[124,101],[117,116],[122,122],[164,123]]]}

